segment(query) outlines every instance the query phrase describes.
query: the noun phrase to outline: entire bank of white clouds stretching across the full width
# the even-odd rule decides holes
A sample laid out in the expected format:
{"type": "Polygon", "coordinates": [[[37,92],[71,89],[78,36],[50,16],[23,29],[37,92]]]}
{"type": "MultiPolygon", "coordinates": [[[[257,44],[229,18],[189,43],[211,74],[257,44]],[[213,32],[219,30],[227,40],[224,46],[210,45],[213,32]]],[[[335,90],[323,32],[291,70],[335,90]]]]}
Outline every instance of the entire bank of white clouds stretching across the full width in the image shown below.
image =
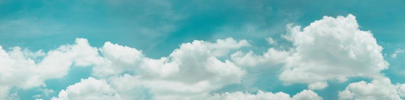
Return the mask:
{"type": "MultiPolygon", "coordinates": [[[[313,90],[328,81],[350,77],[374,79],[350,83],[337,94],[340,99],[401,99],[404,84],[391,84],[381,74],[388,68],[382,47],[370,31],[361,31],[353,15],[323,17],[301,29],[287,25],[282,37],[291,48],[268,48],[263,54],[241,51],[252,47],[233,38],[215,42],[194,40],[179,45],[168,56],[150,58],[136,48],[105,42],[97,48],[77,38],[74,44],[32,52],[0,46],[0,98],[11,88],[46,87],[47,79],[67,75],[70,67],[92,67],[92,77],[59,91],[52,99],[323,99],[313,90]],[[282,65],[278,79],[284,84],[305,83],[308,90],[290,96],[285,92],[220,92],[244,82],[248,68],[282,65]]],[[[273,46],[279,44],[266,38],[273,46]]]]}

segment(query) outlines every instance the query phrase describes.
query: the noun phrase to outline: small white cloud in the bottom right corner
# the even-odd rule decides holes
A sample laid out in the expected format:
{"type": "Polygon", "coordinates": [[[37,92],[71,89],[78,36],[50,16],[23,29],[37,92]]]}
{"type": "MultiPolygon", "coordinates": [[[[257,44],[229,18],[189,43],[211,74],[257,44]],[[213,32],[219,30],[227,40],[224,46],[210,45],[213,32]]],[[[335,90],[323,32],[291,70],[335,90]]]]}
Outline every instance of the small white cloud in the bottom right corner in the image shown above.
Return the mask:
{"type": "Polygon", "coordinates": [[[339,91],[340,99],[401,99],[405,84],[391,84],[389,78],[374,79],[371,83],[359,81],[350,83],[345,90],[339,91]]]}

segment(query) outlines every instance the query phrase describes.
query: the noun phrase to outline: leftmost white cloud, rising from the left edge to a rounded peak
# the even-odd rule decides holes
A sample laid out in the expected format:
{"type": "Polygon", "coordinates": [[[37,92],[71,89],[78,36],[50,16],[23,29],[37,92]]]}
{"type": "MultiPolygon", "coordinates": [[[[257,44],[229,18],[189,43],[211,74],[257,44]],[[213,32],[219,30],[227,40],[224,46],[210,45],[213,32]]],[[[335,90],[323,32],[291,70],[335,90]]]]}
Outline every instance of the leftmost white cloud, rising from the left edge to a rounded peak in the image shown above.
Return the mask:
{"type": "Polygon", "coordinates": [[[7,52],[0,46],[0,95],[7,95],[8,92],[4,91],[12,87],[26,89],[45,85],[44,80],[66,75],[73,64],[89,66],[100,62],[97,48],[80,38],[73,45],[62,45],[46,54],[21,50],[20,47],[7,52]]]}

